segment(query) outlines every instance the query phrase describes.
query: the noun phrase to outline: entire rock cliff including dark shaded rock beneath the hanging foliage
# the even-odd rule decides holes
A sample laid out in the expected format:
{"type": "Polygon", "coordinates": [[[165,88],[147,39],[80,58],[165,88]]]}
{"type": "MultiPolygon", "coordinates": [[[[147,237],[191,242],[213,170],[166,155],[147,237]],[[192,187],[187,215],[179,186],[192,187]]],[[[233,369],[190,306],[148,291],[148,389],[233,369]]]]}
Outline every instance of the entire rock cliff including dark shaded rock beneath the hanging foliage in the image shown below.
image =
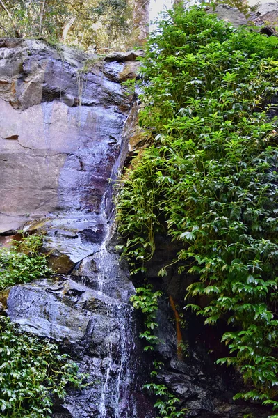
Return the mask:
{"type": "MultiPolygon", "coordinates": [[[[167,296],[158,311],[156,353],[144,354],[136,338],[142,318],[129,302],[135,289],[115,249],[109,179],[144,146],[138,107],[131,109],[121,85],[134,77],[137,56],[99,61],[36,40],[0,40],[0,242],[8,245],[18,229],[43,231],[57,273],[14,286],[0,309],[22,330],[56,341],[88,374],[84,389],[54,405],[54,418],[156,417],[155,399],[142,391],[154,356],[164,362],[158,382],[181,399],[188,417],[266,418],[266,408],[232,401],[239,376],[208,356],[218,350],[221,330],[187,316],[182,333],[189,346],[178,355],[167,296]]],[[[158,278],[175,252],[168,238],[158,241],[150,279],[181,304],[190,277],[172,270],[170,279],[158,278]]]]}

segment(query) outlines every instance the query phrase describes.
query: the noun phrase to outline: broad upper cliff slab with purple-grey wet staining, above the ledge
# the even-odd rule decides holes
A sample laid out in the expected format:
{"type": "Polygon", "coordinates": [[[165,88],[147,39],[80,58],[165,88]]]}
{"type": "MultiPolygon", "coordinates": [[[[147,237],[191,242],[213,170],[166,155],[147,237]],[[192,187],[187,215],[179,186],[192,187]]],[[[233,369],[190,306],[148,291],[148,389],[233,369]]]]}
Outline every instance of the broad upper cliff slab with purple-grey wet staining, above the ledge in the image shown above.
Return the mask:
{"type": "Polygon", "coordinates": [[[78,217],[97,224],[129,111],[124,63],[106,63],[115,82],[97,65],[82,72],[89,57],[66,47],[0,46],[0,231],[65,211],[72,227],[78,217]]]}

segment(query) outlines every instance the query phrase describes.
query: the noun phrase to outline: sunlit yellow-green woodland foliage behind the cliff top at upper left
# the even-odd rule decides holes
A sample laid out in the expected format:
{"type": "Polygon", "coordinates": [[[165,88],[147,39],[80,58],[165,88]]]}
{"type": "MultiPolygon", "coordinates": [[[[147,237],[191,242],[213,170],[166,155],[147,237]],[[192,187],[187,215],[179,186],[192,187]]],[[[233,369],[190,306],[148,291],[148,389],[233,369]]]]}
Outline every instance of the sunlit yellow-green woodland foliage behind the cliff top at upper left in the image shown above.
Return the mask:
{"type": "MultiPolygon", "coordinates": [[[[3,0],[0,36],[44,38],[84,49],[124,48],[132,31],[129,0],[3,0]],[[69,25],[66,39],[63,30],[69,25]],[[17,35],[18,36],[18,35],[17,35]]],[[[65,33],[64,33],[65,35],[65,33]]]]}

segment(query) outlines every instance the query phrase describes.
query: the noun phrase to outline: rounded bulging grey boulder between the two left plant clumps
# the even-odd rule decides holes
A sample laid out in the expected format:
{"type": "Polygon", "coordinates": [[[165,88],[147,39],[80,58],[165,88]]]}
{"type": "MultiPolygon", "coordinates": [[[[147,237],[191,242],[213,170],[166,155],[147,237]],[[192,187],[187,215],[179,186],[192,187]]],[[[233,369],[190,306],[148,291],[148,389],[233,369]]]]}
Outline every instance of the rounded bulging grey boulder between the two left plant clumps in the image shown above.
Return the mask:
{"type": "Polygon", "coordinates": [[[100,345],[116,327],[108,315],[116,305],[115,300],[70,279],[43,279],[10,290],[8,316],[26,332],[56,341],[75,343],[88,332],[99,352],[105,352],[100,345]]]}

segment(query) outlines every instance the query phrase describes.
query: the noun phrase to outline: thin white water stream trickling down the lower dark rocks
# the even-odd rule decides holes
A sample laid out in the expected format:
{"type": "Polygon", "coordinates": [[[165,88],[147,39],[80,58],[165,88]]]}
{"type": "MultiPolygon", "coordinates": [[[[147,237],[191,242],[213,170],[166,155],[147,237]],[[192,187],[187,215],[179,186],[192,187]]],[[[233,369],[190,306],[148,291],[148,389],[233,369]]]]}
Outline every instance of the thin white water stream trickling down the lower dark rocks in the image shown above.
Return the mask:
{"type": "MultiPolygon", "coordinates": [[[[104,224],[104,240],[94,255],[97,265],[97,291],[114,296],[115,279],[119,274],[119,261],[115,253],[108,251],[113,230],[106,217],[106,195],[101,201],[101,218],[104,224]]],[[[111,316],[117,324],[117,341],[108,336],[106,358],[102,363],[104,373],[101,382],[99,418],[129,418],[129,386],[131,384],[131,355],[135,344],[131,328],[133,308],[129,299],[118,295],[119,300],[111,307],[111,316]],[[124,300],[122,300],[124,299],[124,300]],[[116,344],[115,344],[116,342],[116,344]]]]}

